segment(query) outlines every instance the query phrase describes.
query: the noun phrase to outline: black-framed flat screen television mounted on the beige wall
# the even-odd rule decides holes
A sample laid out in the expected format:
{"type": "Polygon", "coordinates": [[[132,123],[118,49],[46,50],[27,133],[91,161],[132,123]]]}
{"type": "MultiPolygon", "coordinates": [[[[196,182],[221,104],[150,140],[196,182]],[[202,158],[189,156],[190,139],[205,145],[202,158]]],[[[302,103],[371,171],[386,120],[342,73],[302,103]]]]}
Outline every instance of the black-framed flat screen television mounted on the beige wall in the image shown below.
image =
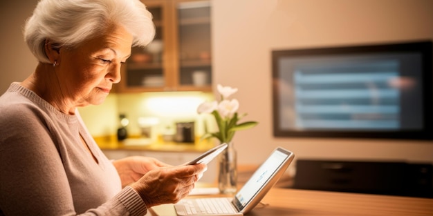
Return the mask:
{"type": "Polygon", "coordinates": [[[275,137],[432,139],[432,41],[272,51],[275,137]]]}

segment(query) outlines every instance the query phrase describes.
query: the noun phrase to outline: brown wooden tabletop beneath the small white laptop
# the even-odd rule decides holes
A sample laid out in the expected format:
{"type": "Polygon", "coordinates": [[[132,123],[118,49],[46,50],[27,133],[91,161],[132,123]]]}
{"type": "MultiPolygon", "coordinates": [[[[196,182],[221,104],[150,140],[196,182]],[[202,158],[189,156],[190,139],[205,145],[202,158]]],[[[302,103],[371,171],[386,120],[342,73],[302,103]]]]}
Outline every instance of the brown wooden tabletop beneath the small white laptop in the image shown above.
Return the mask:
{"type": "MultiPolygon", "coordinates": [[[[261,202],[246,215],[433,215],[433,199],[415,197],[272,188],[261,202]]],[[[172,205],[160,208],[148,215],[176,215],[172,205]]]]}

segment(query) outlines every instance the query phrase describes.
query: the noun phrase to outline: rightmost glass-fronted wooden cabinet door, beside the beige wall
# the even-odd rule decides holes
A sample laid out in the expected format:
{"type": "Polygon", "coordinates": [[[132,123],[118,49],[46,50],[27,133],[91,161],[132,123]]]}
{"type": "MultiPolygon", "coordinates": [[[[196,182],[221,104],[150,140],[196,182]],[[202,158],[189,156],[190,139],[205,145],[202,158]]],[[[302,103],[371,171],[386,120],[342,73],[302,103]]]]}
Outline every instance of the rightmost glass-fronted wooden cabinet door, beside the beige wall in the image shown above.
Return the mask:
{"type": "Polygon", "coordinates": [[[178,89],[206,90],[212,83],[210,1],[176,0],[173,14],[178,89]]]}

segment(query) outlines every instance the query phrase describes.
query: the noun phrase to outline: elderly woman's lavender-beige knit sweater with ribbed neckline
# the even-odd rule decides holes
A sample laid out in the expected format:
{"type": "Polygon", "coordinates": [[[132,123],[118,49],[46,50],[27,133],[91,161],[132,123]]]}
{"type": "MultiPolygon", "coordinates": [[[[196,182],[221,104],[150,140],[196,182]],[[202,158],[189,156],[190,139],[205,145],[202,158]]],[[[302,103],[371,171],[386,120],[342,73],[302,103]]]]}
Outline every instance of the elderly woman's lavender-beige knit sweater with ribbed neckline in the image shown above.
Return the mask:
{"type": "Polygon", "coordinates": [[[0,97],[0,215],[145,215],[76,113],[18,83],[0,97]]]}

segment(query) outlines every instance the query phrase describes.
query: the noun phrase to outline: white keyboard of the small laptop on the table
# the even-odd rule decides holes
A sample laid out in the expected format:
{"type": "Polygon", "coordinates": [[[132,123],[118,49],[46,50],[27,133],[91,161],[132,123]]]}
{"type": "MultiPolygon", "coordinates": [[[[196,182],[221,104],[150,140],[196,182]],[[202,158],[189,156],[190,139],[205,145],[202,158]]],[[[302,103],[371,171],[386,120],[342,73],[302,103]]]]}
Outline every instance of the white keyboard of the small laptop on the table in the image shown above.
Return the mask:
{"type": "Polygon", "coordinates": [[[186,215],[230,215],[237,213],[229,199],[223,197],[183,199],[180,204],[185,208],[186,215]]]}

